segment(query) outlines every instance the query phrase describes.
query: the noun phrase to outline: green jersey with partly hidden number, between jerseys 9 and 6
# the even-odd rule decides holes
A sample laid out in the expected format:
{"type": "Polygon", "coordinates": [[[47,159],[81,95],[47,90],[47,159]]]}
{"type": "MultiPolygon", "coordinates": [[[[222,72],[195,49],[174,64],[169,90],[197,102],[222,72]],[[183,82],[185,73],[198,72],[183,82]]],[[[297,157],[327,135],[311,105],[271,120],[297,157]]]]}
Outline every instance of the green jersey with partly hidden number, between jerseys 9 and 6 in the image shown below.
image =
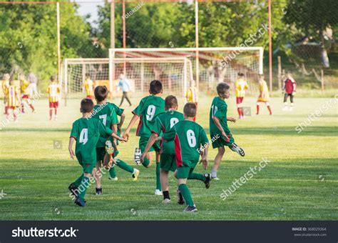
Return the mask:
{"type": "MultiPolygon", "coordinates": [[[[174,127],[174,125],[180,121],[183,121],[184,116],[182,113],[178,111],[166,111],[164,114],[160,114],[155,119],[155,124],[153,130],[151,132],[158,134],[163,132],[169,132],[170,129],[174,127]]],[[[161,144],[161,154],[175,154],[175,146],[174,142],[163,142],[161,144]]]]}

